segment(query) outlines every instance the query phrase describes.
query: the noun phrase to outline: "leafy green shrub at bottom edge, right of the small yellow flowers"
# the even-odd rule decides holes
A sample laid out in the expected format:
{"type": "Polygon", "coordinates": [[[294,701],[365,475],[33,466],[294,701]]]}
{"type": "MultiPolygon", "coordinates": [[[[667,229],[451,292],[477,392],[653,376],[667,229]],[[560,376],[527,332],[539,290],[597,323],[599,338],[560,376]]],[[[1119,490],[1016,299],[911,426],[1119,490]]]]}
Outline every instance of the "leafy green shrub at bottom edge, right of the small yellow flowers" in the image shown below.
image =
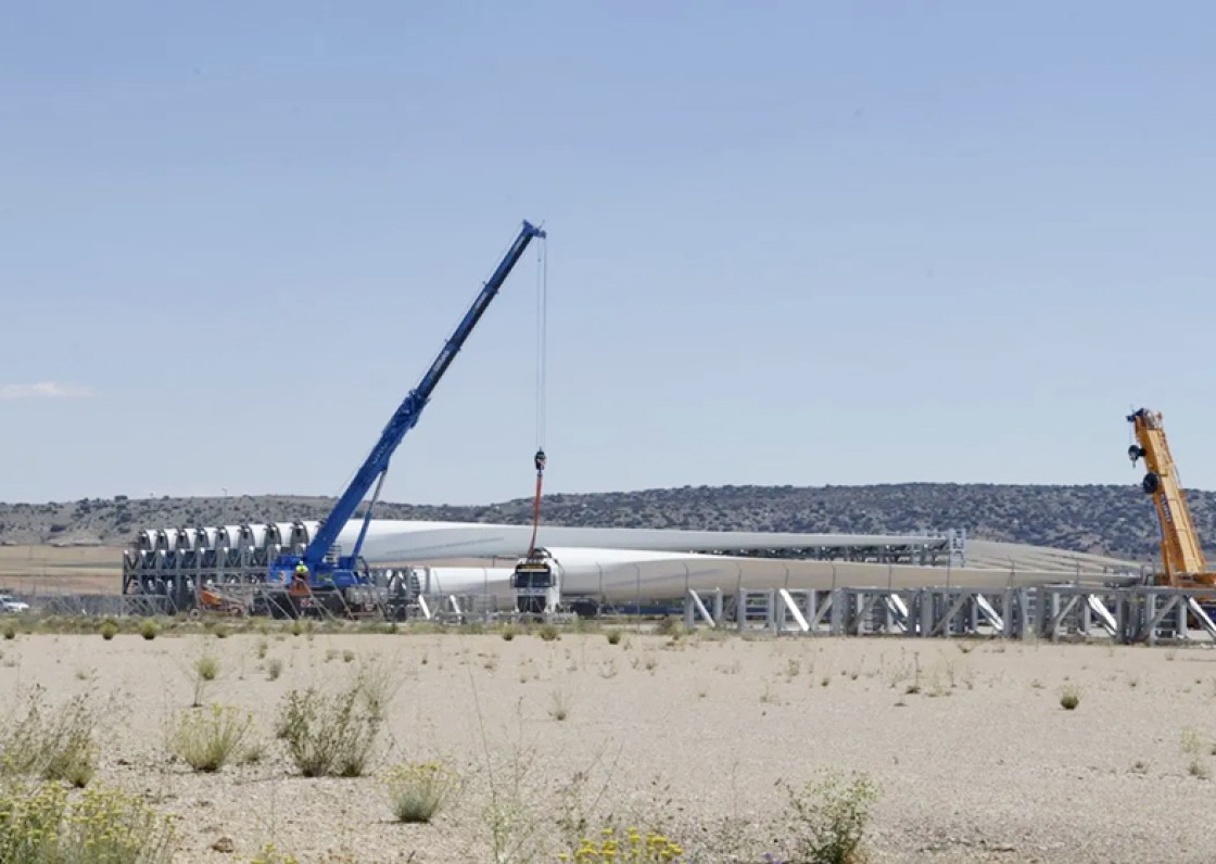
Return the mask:
{"type": "Polygon", "coordinates": [[[835,773],[790,794],[793,859],[807,864],[855,864],[877,789],[865,777],[835,773]]]}

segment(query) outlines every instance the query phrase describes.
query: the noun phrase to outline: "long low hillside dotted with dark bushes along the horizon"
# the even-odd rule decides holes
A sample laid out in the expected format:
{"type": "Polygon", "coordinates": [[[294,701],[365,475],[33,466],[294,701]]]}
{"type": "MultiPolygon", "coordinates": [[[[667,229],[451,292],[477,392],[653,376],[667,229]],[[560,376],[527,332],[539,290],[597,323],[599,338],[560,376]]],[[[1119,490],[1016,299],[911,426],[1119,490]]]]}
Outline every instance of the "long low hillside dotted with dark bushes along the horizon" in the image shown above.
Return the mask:
{"type": "MultiPolygon", "coordinates": [[[[1200,537],[1216,542],[1216,493],[1188,492],[1200,537]]],[[[0,544],[122,546],[142,527],[317,519],[330,498],[85,499],[0,504],[0,544]]],[[[479,507],[383,503],[395,519],[527,523],[530,501],[479,507]]],[[[880,532],[967,529],[974,538],[1054,546],[1147,560],[1158,529],[1136,486],[721,486],[553,495],[554,525],[880,532]]]]}

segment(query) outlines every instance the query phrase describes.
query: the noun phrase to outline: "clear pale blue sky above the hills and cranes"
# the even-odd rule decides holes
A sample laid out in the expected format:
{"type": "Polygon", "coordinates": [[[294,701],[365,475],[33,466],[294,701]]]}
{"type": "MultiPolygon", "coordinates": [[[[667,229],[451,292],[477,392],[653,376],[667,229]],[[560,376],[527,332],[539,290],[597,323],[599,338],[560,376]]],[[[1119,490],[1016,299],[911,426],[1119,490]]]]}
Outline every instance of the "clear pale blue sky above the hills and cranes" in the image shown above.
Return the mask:
{"type": "Polygon", "coordinates": [[[551,492],[1133,493],[1142,406],[1216,489],[1214,26],[5,4],[0,501],[340,493],[524,219],[385,499],[527,497],[539,442],[551,492]]]}

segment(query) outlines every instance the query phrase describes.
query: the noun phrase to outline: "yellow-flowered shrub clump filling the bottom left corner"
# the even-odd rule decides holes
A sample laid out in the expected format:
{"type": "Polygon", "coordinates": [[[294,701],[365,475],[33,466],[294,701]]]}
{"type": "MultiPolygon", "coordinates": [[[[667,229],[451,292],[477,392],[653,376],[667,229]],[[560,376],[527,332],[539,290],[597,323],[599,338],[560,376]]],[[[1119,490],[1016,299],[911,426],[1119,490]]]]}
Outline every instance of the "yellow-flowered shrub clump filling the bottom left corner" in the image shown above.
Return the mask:
{"type": "Polygon", "coordinates": [[[173,852],[173,821],[140,796],[90,789],[69,802],[57,784],[0,790],[5,864],[168,864],[173,852]]]}

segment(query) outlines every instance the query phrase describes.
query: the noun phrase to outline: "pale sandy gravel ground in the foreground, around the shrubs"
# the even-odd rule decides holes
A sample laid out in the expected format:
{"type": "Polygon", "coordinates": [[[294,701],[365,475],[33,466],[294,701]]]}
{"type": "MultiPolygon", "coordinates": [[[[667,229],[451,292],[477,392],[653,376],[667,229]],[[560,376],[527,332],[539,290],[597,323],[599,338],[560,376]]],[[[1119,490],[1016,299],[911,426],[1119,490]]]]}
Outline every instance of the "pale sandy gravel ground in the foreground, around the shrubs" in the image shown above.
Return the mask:
{"type": "Polygon", "coordinates": [[[761,862],[783,836],[767,824],[781,784],[826,768],[877,785],[874,862],[1216,858],[1205,648],[272,631],[21,634],[0,651],[2,713],[35,684],[106,706],[98,780],[179,814],[181,862],[249,862],[275,842],[300,862],[489,863],[490,814],[507,812],[500,834],[533,851],[512,860],[554,862],[568,809],[591,830],[662,829],[688,862],[761,862]],[[163,733],[204,651],[221,672],[203,701],[248,708],[266,742],[260,762],[209,775],[171,761],[163,733]],[[387,671],[393,693],[370,775],[299,777],[274,736],[285,695],[360,668],[387,671]],[[432,824],[394,823],[382,769],[432,758],[461,794],[432,824]],[[231,852],[212,848],[221,837],[231,852]]]}

